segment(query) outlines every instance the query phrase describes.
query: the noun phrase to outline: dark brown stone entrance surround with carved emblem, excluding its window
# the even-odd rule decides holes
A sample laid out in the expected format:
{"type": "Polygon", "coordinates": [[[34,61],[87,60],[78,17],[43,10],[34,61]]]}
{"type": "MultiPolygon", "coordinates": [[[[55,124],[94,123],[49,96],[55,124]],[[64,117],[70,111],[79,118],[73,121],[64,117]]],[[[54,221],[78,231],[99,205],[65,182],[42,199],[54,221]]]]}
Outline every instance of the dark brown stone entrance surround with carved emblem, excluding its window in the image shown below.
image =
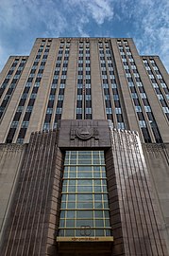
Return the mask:
{"type": "Polygon", "coordinates": [[[113,129],[106,120],[63,120],[57,131],[32,134],[15,188],[3,256],[168,255],[154,184],[136,132],[113,129]],[[56,242],[64,152],[76,149],[105,151],[111,243],[87,242],[86,247],[84,242],[56,242]]]}

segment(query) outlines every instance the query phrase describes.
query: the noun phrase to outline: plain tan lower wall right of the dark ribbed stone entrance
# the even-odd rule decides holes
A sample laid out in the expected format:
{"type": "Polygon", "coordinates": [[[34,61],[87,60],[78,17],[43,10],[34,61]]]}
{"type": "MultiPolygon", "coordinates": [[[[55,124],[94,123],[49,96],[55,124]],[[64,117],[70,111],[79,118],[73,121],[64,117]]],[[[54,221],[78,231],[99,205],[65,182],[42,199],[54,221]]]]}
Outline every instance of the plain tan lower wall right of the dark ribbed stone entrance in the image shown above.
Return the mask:
{"type": "Polygon", "coordinates": [[[161,233],[169,251],[169,143],[143,144],[144,157],[161,217],[161,233]]]}

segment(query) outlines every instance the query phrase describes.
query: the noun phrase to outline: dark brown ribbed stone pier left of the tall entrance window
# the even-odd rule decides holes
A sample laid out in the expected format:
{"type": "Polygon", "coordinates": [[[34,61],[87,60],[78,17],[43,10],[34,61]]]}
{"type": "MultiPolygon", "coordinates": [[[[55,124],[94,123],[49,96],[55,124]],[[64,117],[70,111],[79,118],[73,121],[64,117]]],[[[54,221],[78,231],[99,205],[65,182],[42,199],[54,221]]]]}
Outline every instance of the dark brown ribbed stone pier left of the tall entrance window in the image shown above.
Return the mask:
{"type": "Polygon", "coordinates": [[[57,255],[61,162],[56,131],[31,135],[1,255],[57,255]]]}

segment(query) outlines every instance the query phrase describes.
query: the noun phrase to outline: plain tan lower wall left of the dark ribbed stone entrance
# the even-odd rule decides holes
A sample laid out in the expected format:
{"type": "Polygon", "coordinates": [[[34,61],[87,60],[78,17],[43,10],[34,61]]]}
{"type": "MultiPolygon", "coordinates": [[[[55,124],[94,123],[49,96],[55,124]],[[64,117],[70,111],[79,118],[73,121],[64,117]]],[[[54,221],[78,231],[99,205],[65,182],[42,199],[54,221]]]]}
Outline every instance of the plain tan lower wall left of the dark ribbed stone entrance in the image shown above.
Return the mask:
{"type": "Polygon", "coordinates": [[[0,251],[26,145],[0,144],[0,251]]]}

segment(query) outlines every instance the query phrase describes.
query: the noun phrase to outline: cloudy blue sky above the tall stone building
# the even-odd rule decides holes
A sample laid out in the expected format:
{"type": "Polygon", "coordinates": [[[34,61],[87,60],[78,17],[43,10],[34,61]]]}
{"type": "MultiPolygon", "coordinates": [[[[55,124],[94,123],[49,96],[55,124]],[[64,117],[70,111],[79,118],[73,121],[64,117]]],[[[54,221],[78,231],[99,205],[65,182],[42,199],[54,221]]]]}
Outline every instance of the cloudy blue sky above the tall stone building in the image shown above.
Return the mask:
{"type": "Polygon", "coordinates": [[[132,37],[169,70],[169,0],[0,0],[0,70],[37,37],[132,37]]]}

